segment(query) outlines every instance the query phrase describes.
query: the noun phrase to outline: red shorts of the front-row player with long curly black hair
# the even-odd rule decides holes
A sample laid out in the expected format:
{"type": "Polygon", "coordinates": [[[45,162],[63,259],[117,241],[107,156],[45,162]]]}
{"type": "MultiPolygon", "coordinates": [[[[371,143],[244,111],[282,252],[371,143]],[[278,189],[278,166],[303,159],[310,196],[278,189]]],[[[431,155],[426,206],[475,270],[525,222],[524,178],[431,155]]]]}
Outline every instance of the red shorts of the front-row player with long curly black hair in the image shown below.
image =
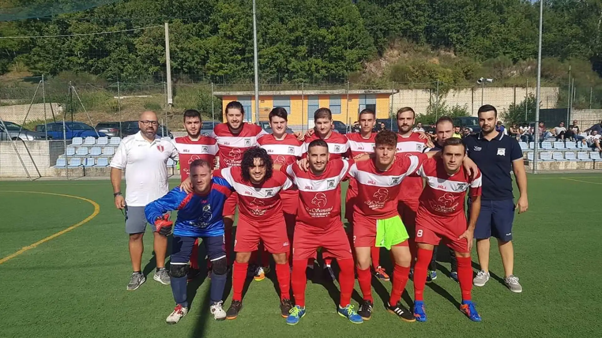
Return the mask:
{"type": "Polygon", "coordinates": [[[263,242],[265,250],[269,253],[286,253],[290,244],[288,243],[284,216],[275,217],[268,223],[263,220],[249,220],[242,215],[238,215],[234,251],[237,253],[253,252],[257,250],[259,241],[263,242]]]}

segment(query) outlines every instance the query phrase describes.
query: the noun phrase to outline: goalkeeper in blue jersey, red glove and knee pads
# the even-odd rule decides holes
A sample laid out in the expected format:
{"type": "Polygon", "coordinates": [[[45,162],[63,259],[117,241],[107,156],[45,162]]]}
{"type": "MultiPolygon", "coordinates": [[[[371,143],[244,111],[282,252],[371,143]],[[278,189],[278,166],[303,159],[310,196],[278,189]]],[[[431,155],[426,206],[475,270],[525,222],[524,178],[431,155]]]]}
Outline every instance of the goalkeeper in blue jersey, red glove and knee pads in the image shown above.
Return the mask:
{"type": "Polygon", "coordinates": [[[176,307],[167,317],[168,324],[176,324],[188,313],[186,293],[188,260],[194,241],[201,238],[211,260],[211,313],[218,321],[226,319],[222,309],[222,297],[226,285],[226,251],[224,245],[223,205],[232,191],[232,186],[221,177],[211,177],[211,165],[202,159],[190,164],[190,179],[193,192],[188,194],[174,188],[144,208],[146,220],[155,224],[157,232],[169,235],[172,221],[169,211],[178,210],[173,226],[172,260],[170,280],[176,307]]]}

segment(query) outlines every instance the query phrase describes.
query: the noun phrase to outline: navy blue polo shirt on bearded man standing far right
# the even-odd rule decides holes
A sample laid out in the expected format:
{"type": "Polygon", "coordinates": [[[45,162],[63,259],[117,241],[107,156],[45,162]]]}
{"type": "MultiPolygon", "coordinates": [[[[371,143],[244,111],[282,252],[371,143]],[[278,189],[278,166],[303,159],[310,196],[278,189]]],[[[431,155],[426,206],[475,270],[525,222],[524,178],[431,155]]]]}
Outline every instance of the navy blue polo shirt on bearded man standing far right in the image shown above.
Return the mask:
{"type": "Polygon", "coordinates": [[[512,161],[523,158],[523,150],[514,137],[498,133],[488,141],[481,133],[464,138],[468,157],[477,164],[483,177],[484,200],[509,200],[512,195],[512,161]]]}

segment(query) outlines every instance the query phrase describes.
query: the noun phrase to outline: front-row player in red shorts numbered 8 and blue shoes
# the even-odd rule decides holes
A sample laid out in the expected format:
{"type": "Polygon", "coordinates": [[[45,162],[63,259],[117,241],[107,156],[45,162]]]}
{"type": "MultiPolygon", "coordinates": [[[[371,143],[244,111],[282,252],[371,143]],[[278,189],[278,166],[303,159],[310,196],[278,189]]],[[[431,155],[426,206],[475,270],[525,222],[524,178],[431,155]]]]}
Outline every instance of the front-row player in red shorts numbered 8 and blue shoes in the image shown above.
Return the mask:
{"type": "Polygon", "coordinates": [[[414,267],[414,317],[419,322],[426,322],[424,284],[433,248],[441,239],[455,251],[458,260],[458,277],[462,290],[460,310],[471,321],[481,321],[471,301],[473,270],[470,259],[474,227],[481,204],[481,175],[477,172],[474,179],[471,179],[462,168],[465,153],[461,139],[448,138],[444,141],[441,158],[428,159],[418,169],[418,174],[426,180],[416,216],[418,260],[414,267]],[[467,191],[472,201],[468,224],[464,214],[467,191]]]}

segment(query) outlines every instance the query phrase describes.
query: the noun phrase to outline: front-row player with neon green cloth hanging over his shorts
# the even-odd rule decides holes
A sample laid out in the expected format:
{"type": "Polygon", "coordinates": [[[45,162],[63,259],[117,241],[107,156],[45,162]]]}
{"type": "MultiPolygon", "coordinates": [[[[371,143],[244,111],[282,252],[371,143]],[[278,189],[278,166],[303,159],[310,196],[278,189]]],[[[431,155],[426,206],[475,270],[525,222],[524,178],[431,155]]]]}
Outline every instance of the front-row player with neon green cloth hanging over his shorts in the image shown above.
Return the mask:
{"type": "Polygon", "coordinates": [[[408,233],[397,214],[400,183],[414,174],[421,163],[436,152],[418,156],[396,155],[397,135],[382,131],[374,139],[374,156],[370,161],[353,164],[349,176],[358,182],[358,203],[353,206],[353,238],[356,253],[359,287],[364,299],[358,314],[371,318],[370,248],[385,247],[394,259],[393,290],[387,304],[389,312],[404,321],[414,322],[414,315],[400,302],[408,281],[411,254],[408,233]]]}

